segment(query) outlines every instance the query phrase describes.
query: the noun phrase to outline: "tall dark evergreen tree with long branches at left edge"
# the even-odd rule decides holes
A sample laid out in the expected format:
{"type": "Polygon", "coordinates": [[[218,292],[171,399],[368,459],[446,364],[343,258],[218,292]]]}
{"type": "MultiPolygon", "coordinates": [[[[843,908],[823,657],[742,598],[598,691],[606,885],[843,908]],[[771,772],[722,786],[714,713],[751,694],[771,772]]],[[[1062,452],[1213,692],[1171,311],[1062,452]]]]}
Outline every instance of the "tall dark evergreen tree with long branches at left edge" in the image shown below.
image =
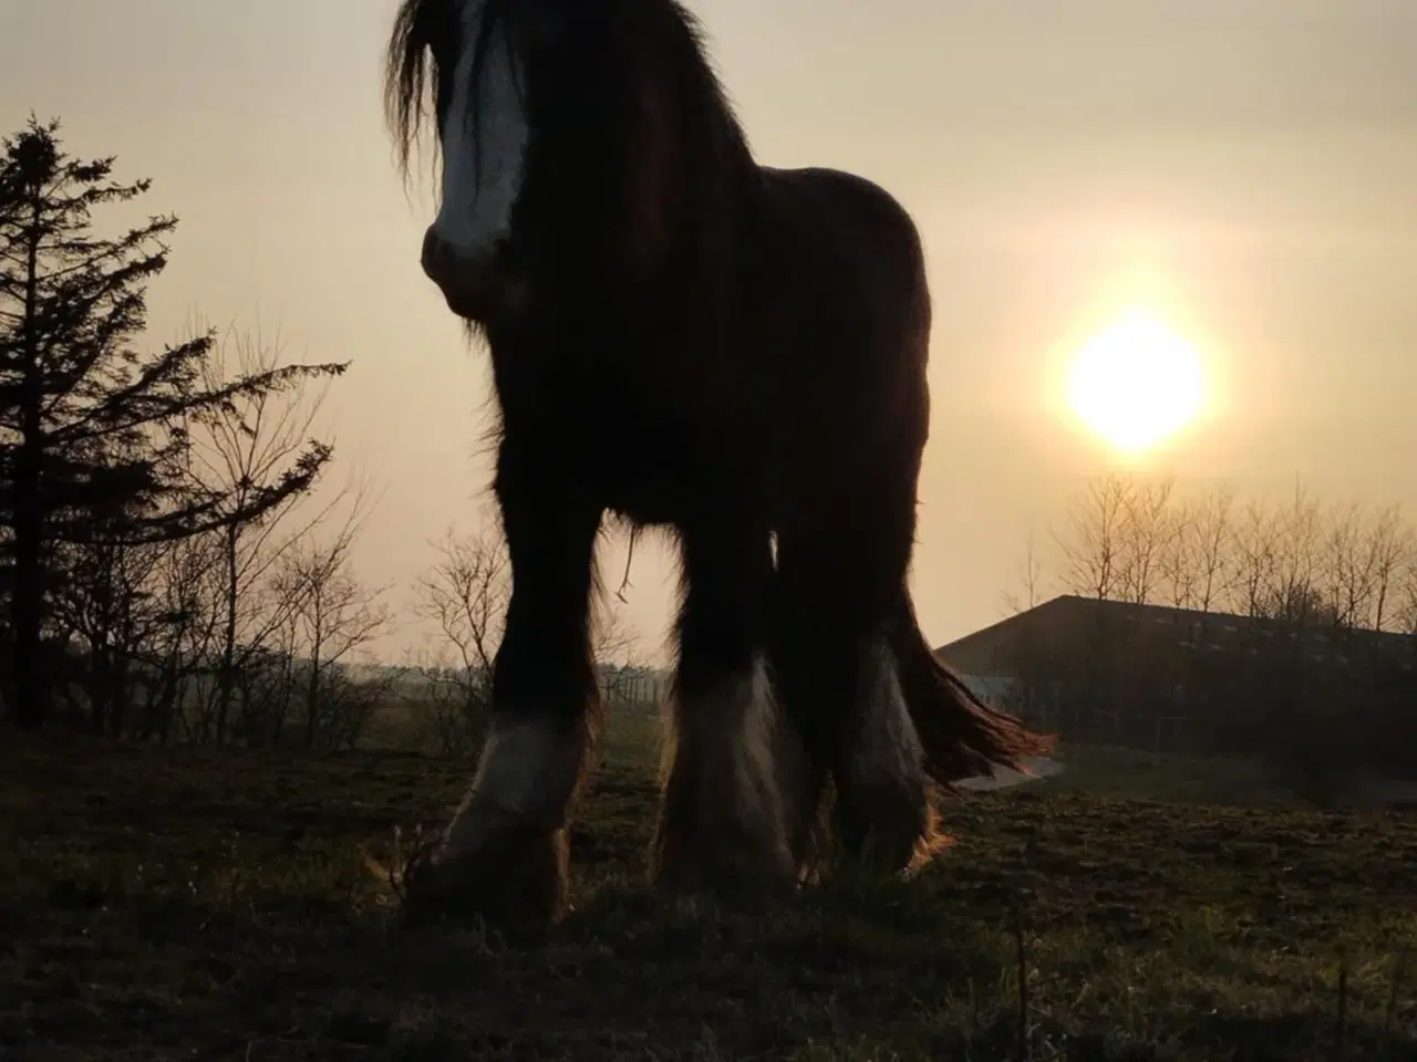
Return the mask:
{"type": "Polygon", "coordinates": [[[164,239],[177,218],[95,235],[94,208],[129,202],[150,181],[112,180],[112,157],[68,157],[58,130],[58,122],[31,116],[0,152],[0,545],[21,729],[47,715],[44,632],[65,545],[181,538],[258,520],[309,490],[329,446],[309,443],[283,474],[244,490],[237,504],[230,487],[186,474],[186,428],[346,368],[288,365],[213,384],[201,371],[210,333],[157,353],[137,350],[146,287],[167,265],[164,239]]]}

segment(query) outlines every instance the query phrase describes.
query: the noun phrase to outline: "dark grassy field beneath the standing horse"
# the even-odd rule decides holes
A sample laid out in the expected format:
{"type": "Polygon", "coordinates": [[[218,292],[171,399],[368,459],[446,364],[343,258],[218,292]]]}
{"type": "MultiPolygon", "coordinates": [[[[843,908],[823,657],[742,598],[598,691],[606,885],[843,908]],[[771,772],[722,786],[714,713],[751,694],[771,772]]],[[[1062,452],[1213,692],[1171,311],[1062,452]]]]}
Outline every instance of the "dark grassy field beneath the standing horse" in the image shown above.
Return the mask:
{"type": "Polygon", "coordinates": [[[1034,1059],[1417,1058],[1411,818],[1127,800],[1078,755],[958,803],[913,882],[727,910],[642,884],[652,725],[612,725],[537,940],[401,929],[366,864],[465,766],[10,742],[0,1058],[1010,1059],[1017,909],[1034,1059]]]}

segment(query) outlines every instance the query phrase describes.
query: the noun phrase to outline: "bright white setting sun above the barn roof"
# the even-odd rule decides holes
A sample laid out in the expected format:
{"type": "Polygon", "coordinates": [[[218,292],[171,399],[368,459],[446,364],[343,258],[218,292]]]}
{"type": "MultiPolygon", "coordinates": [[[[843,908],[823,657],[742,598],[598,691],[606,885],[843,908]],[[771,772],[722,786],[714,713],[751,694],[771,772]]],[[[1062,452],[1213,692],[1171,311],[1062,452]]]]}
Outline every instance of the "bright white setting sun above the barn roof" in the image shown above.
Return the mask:
{"type": "Polygon", "coordinates": [[[1127,453],[1146,450],[1195,421],[1203,394],[1195,347],[1145,313],[1090,340],[1067,388],[1073,412],[1127,453]]]}

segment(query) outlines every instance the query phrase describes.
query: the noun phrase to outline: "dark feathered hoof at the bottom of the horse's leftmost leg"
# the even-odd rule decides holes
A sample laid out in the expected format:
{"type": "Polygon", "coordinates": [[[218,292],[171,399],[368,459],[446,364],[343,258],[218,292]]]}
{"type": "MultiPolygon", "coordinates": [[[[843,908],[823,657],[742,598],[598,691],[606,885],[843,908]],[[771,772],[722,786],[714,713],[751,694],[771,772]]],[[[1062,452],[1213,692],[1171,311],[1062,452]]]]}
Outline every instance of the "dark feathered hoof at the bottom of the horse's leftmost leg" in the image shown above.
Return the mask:
{"type": "Polygon", "coordinates": [[[427,845],[404,871],[404,919],[480,916],[509,926],[550,926],[567,912],[565,830],[530,827],[487,834],[475,848],[427,845]]]}

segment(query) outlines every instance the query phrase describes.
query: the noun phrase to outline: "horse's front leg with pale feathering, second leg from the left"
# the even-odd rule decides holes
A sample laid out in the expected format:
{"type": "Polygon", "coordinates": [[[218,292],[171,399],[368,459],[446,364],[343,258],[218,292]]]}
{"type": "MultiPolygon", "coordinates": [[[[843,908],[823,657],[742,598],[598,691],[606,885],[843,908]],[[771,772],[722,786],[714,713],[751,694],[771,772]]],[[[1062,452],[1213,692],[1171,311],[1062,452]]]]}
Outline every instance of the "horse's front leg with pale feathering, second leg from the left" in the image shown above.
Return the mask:
{"type": "Polygon", "coordinates": [[[781,731],[767,670],[768,528],[713,520],[682,528],[673,741],[655,869],[673,886],[795,885],[778,784],[781,731]]]}

